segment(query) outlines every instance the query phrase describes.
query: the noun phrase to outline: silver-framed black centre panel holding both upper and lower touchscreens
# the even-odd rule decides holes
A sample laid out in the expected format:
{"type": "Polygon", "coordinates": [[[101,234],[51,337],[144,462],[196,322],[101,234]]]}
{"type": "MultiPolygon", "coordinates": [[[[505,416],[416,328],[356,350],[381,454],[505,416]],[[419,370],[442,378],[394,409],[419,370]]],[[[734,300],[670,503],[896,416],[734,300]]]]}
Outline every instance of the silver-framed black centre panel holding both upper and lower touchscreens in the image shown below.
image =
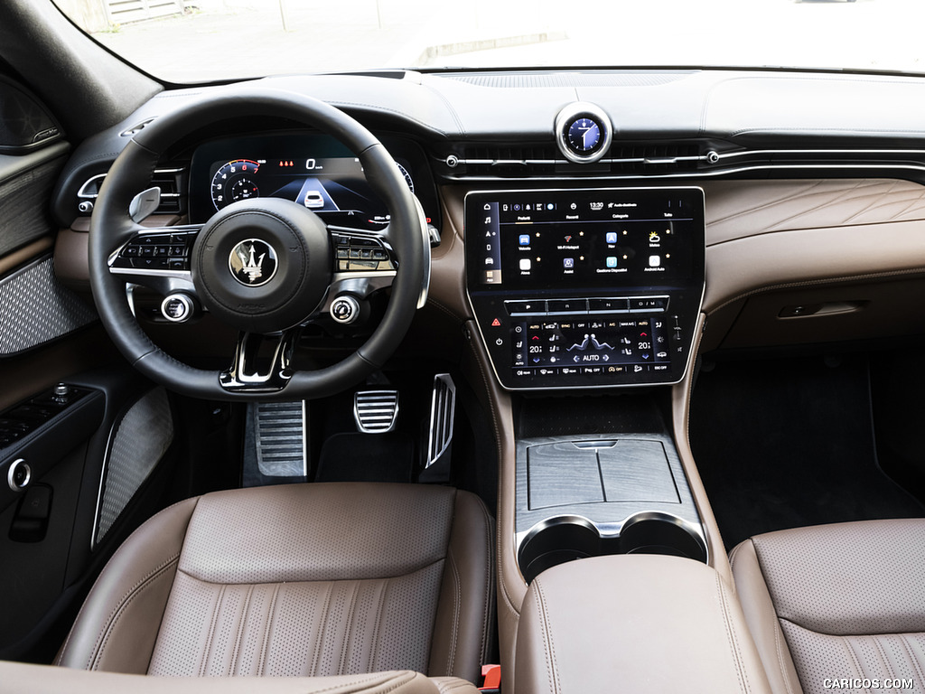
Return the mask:
{"type": "Polygon", "coordinates": [[[466,279],[505,388],[684,377],[704,287],[697,188],[473,192],[466,279]]]}

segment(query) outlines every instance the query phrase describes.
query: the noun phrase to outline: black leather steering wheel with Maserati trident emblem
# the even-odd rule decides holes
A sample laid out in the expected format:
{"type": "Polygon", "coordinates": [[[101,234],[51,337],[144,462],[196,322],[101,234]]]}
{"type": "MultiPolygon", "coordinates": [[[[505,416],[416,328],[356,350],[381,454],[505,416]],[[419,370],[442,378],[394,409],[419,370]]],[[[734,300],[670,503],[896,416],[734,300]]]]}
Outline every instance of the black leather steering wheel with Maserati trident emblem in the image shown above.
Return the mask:
{"type": "Polygon", "coordinates": [[[383,366],[425,302],[430,245],[420,204],[371,132],[339,109],[299,93],[234,88],[181,106],[133,136],[97,197],[89,264],[93,299],[106,330],[148,378],[213,400],[301,400],[345,390],[383,366]],[[154,229],[140,224],[159,199],[157,189],[142,191],[170,144],[220,120],[255,116],[289,118],[336,137],[360,159],[366,180],[390,214],[388,226],[375,237],[396,269],[364,274],[364,281],[377,287],[391,284],[385,314],[355,353],[332,366],[311,371],[291,366],[302,325],[340,288],[358,281],[338,272],[330,239],[334,229],[305,205],[256,198],[229,204],[202,225],[154,229]],[[144,266],[146,261],[135,259],[139,254],[168,255],[144,266]],[[194,368],[154,345],[129,305],[129,283],[185,295],[238,328],[232,365],[225,371],[194,368]],[[260,370],[256,354],[264,341],[272,341],[273,357],[269,368],[260,370]]]}

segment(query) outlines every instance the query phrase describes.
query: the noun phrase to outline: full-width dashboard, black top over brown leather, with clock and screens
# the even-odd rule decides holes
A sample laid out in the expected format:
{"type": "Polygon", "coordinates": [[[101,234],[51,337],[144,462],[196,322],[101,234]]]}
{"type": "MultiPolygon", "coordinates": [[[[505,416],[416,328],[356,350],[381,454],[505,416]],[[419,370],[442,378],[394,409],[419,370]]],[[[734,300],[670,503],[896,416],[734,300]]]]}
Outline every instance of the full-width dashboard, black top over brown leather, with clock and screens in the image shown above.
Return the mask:
{"type": "MultiPolygon", "coordinates": [[[[475,317],[506,389],[678,382],[701,310],[709,316],[709,349],[888,337],[919,317],[913,308],[897,323],[895,306],[907,293],[889,281],[921,266],[918,236],[907,233],[922,218],[919,81],[549,70],[281,77],[256,84],[337,105],[387,145],[425,211],[434,246],[432,304],[475,317]],[[686,205],[687,221],[671,217],[672,201],[686,205]],[[616,209],[636,212],[621,219],[616,209]],[[648,229],[644,219],[652,217],[670,225],[648,229]],[[637,230],[624,236],[622,221],[637,230]],[[599,233],[584,240],[568,224],[599,233]],[[552,229],[562,242],[553,242],[550,231],[524,244],[526,225],[552,229]],[[660,234],[673,227],[676,234],[660,234]],[[660,242],[621,245],[611,242],[614,233],[621,240],[654,233],[660,242]],[[585,245],[567,242],[572,236],[585,245]],[[524,269],[527,264],[533,266],[524,269]],[[844,287],[854,277],[864,278],[863,291],[844,287]],[[884,281],[868,286],[877,277],[884,281]],[[842,287],[823,290],[828,284],[842,287]],[[663,320],[655,329],[664,332],[651,336],[654,341],[683,336],[676,341],[683,349],[672,359],[667,350],[644,349],[644,362],[639,345],[650,336],[636,319],[656,317],[663,320]],[[554,353],[530,353],[536,345],[524,348],[516,339],[523,334],[534,341],[543,333],[577,352],[586,332],[601,329],[607,337],[588,337],[581,352],[606,355],[606,362],[574,362],[577,354],[570,353],[572,363],[565,365],[552,361],[554,353]],[[600,352],[618,346],[615,354],[600,352]]],[[[105,170],[132,133],[210,90],[235,89],[158,94],[81,144],[54,200],[61,227],[86,228],[105,170]]],[[[161,189],[158,212],[192,223],[238,199],[295,200],[343,234],[335,240],[340,270],[388,271],[394,266],[387,251],[362,246],[388,224],[388,210],[362,174],[356,157],[330,135],[295,129],[270,113],[192,133],[166,155],[152,182],[161,189]]]]}

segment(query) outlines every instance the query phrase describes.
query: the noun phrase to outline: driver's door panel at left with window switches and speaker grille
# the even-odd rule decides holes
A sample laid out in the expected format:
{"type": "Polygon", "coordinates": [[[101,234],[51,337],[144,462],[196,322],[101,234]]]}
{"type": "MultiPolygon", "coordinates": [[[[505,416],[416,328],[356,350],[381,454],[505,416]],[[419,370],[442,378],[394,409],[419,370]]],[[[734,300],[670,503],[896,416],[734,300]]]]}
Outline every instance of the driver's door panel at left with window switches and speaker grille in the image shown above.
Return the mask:
{"type": "Polygon", "coordinates": [[[117,353],[89,294],[56,277],[49,211],[68,144],[5,152],[4,133],[21,130],[3,123],[10,113],[0,109],[0,659],[48,662],[106,559],[162,501],[174,429],[166,393],[117,353]]]}

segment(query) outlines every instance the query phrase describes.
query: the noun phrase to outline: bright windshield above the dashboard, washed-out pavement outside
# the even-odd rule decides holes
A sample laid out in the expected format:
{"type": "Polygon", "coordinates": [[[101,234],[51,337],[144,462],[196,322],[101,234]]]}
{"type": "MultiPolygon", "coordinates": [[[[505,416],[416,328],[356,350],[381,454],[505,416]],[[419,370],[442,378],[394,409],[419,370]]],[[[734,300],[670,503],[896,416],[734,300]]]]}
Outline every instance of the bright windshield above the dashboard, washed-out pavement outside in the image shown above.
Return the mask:
{"type": "Polygon", "coordinates": [[[56,2],[98,42],[178,83],[382,68],[925,71],[921,0],[56,2]]]}

